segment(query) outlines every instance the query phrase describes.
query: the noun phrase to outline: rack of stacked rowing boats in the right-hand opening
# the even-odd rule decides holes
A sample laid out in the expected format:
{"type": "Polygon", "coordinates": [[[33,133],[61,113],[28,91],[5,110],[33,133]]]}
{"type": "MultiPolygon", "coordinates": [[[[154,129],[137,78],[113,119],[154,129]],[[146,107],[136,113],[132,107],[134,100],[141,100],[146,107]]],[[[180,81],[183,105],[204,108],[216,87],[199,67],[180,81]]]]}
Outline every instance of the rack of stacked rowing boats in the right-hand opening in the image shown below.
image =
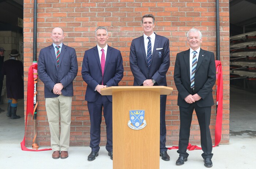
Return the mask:
{"type": "Polygon", "coordinates": [[[230,37],[230,85],[256,91],[256,31],[230,37]]]}

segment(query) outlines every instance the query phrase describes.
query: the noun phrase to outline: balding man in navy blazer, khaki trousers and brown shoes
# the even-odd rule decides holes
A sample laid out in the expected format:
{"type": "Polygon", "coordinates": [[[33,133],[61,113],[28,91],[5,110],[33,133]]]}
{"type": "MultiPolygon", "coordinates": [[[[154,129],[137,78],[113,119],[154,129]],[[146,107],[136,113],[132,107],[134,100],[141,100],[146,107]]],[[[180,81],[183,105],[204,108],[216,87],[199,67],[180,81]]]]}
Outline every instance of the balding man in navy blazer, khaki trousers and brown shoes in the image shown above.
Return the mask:
{"type": "Polygon", "coordinates": [[[41,49],[38,76],[45,84],[45,108],[48,117],[52,158],[67,158],[69,148],[73,80],[78,72],[76,51],[63,44],[64,32],[54,28],[53,44],[41,49]],[[61,118],[61,133],[59,131],[61,118]]]}

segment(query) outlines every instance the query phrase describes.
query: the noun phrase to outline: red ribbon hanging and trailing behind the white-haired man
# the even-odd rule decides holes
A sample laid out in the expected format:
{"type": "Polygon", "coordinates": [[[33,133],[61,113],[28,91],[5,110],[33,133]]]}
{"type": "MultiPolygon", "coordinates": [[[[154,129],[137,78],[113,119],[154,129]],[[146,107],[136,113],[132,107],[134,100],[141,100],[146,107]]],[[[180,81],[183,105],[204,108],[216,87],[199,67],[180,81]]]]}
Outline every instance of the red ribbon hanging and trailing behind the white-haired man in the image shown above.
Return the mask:
{"type": "MultiPolygon", "coordinates": [[[[222,65],[221,61],[215,60],[216,66],[216,105],[217,105],[217,116],[215,122],[215,144],[212,147],[216,147],[219,145],[221,141],[221,129],[222,129],[222,109],[223,109],[223,79],[222,79],[222,65]]],[[[169,147],[169,150],[178,149],[178,146],[169,147]]],[[[202,150],[199,146],[194,146],[188,143],[187,149],[190,150],[202,150]]]]}

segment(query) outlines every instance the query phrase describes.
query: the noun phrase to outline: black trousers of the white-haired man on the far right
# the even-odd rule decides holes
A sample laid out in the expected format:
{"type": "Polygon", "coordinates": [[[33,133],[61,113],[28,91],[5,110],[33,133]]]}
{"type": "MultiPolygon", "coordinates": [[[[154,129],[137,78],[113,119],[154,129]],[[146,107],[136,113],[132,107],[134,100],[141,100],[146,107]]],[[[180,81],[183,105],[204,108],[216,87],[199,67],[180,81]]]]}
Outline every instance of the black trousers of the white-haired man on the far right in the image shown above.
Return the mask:
{"type": "Polygon", "coordinates": [[[198,107],[196,103],[190,104],[189,107],[180,107],[180,138],[178,153],[180,156],[188,157],[187,146],[190,136],[190,127],[192,121],[193,110],[196,111],[196,116],[200,126],[201,147],[203,150],[203,158],[212,158],[212,139],[210,133],[211,106],[198,107]]]}

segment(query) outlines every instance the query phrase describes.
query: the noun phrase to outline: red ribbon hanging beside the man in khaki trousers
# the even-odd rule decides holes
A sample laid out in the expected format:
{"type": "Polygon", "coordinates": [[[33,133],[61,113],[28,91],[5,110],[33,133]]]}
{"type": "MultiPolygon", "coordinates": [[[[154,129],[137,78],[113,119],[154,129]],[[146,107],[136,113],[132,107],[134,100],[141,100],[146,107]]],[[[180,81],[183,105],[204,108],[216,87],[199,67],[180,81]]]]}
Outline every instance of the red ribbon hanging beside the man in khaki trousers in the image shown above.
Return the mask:
{"type": "MultiPolygon", "coordinates": [[[[25,121],[25,134],[24,134],[23,141],[20,143],[20,146],[23,151],[40,152],[40,151],[52,150],[52,149],[41,149],[41,150],[36,149],[35,150],[35,149],[28,149],[25,146],[26,130],[27,130],[27,117],[28,117],[29,113],[34,115],[34,112],[36,109],[36,106],[34,108],[34,94],[36,94],[36,93],[34,93],[34,84],[37,83],[37,81],[36,81],[37,78],[34,79],[33,69],[37,70],[37,64],[33,64],[29,67],[29,75],[28,75],[28,79],[27,79],[27,111],[26,111],[26,121],[25,121]]],[[[36,137],[36,135],[35,135],[35,137],[36,137]]],[[[35,139],[35,137],[34,137],[34,139],[35,139]]]]}

